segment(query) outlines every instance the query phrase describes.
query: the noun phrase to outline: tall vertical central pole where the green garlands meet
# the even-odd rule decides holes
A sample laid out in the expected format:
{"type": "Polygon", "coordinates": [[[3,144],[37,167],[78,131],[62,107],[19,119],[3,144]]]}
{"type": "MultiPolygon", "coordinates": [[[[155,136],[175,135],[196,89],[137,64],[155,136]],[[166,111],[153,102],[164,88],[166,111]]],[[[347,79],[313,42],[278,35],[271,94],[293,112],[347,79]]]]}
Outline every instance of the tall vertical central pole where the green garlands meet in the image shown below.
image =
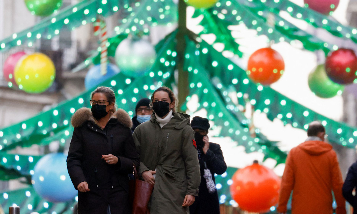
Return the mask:
{"type": "Polygon", "coordinates": [[[183,70],[185,63],[186,40],[186,3],[178,1],[178,32],[176,35],[177,69],[178,69],[178,110],[188,96],[188,72],[183,70]]]}

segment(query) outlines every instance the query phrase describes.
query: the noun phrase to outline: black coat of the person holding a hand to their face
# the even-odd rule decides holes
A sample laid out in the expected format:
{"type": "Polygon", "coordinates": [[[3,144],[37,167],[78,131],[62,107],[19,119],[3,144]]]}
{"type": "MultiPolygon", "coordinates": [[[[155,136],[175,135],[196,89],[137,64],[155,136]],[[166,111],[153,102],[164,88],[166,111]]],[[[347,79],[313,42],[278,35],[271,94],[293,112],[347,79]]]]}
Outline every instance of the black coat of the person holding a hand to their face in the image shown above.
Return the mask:
{"type": "MultiPolygon", "coordinates": [[[[204,155],[202,148],[201,154],[204,155]]],[[[206,155],[198,159],[201,169],[201,184],[198,190],[198,197],[190,206],[190,214],[219,214],[220,204],[218,200],[217,190],[215,193],[209,193],[206,185],[206,179],[203,177],[203,169],[205,169],[204,160],[206,160],[207,168],[212,173],[212,179],[215,182],[215,173],[223,174],[227,170],[226,162],[224,161],[221,146],[217,143],[210,143],[206,155]]],[[[216,183],[216,182],[215,182],[216,183]]]]}

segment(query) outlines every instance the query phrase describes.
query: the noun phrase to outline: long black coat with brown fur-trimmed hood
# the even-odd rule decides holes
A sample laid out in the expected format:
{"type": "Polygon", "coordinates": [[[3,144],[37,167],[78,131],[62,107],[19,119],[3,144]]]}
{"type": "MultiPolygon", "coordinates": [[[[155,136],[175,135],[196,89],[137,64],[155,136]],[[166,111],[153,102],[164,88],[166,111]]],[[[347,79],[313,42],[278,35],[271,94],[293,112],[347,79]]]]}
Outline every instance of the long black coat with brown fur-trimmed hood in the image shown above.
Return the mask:
{"type": "Polygon", "coordinates": [[[67,169],[74,187],[86,181],[89,192],[78,192],[79,214],[130,214],[129,178],[133,163],[139,167],[130,127],[130,116],[116,111],[104,129],[94,119],[89,108],[81,108],[72,117],[74,132],[70,144],[67,169]],[[118,157],[109,165],[102,155],[118,157]]]}

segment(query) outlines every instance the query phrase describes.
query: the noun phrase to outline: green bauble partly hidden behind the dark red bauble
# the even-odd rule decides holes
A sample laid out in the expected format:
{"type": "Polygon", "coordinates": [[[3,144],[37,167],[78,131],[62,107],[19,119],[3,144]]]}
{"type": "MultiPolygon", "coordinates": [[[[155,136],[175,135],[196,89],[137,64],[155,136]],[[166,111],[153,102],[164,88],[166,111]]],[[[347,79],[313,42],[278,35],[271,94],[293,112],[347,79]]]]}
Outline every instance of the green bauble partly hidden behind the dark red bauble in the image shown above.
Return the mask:
{"type": "Polygon", "coordinates": [[[319,65],[309,74],[308,84],[310,90],[321,98],[332,98],[341,95],[345,87],[332,82],[326,74],[325,66],[319,65]]]}

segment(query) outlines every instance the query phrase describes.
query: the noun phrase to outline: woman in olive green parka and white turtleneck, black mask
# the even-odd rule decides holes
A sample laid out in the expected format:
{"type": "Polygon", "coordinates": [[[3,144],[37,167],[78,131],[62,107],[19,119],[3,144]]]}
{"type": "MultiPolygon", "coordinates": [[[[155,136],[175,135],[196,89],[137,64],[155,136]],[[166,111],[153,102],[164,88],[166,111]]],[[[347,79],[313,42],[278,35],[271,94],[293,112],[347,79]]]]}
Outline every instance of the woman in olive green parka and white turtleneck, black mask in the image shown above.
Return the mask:
{"type": "Polygon", "coordinates": [[[176,112],[177,99],[167,87],[151,96],[152,118],[133,137],[140,153],[139,173],[154,184],[151,214],[188,214],[201,182],[195,135],[190,116],[176,112]]]}

